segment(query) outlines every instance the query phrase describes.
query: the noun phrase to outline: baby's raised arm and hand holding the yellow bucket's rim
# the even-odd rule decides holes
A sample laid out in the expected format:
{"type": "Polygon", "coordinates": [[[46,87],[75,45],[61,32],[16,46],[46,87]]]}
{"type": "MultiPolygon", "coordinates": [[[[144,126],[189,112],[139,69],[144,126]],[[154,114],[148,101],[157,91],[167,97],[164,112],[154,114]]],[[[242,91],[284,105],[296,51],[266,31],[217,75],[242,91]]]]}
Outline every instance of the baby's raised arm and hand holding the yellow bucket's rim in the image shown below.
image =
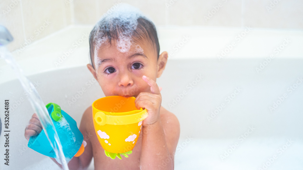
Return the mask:
{"type": "Polygon", "coordinates": [[[146,76],[142,78],[151,86],[151,93],[141,92],[135,100],[137,108],[148,111],[148,117],[142,123],[140,169],[174,169],[179,121],[174,114],[161,108],[162,98],[157,83],[146,76]]]}

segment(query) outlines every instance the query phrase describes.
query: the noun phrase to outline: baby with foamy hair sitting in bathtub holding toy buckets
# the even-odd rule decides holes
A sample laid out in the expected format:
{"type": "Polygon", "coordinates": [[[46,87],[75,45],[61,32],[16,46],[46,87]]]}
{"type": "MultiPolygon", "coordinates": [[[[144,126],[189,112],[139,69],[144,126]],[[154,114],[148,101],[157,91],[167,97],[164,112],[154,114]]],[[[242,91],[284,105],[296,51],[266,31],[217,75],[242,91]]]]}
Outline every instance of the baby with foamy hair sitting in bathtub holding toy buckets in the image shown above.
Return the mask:
{"type": "MultiPolygon", "coordinates": [[[[87,143],[85,150],[81,156],[73,157],[68,167],[86,169],[94,157],[95,169],[173,169],[180,125],[177,117],[161,106],[161,88],[156,79],[165,69],[168,53],[159,54],[154,24],[136,8],[120,5],[98,21],[90,33],[89,46],[91,64],[87,67],[105,96],[133,96],[135,106],[147,109],[148,117],[143,120],[132,154],[122,160],[111,159],[98,141],[89,106],[79,127],[87,143]]],[[[41,130],[37,115],[33,114],[25,138],[29,140],[41,130]]]]}

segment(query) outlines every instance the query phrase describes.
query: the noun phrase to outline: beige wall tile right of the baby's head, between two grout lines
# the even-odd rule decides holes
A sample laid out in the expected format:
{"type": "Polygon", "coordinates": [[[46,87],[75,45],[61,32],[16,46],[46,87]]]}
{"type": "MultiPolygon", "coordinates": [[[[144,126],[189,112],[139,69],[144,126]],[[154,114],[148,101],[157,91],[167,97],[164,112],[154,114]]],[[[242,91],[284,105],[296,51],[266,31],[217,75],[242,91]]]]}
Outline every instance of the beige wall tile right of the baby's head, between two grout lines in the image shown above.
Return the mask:
{"type": "Polygon", "coordinates": [[[241,1],[239,0],[165,1],[168,4],[169,25],[241,27],[241,1]],[[209,12],[211,14],[208,14],[209,12]]]}

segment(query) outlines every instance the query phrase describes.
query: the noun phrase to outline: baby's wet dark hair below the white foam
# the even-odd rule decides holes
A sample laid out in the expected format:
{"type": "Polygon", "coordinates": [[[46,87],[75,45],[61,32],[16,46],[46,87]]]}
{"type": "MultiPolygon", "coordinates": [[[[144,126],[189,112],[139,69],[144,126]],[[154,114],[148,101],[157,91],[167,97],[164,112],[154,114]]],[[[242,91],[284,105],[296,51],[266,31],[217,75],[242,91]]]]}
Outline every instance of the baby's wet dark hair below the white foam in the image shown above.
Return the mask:
{"type": "MultiPolygon", "coordinates": [[[[106,23],[107,21],[105,19],[99,21],[95,27],[92,29],[91,33],[89,34],[89,52],[90,52],[90,59],[92,62],[92,58],[94,56],[94,49],[95,49],[95,39],[101,39],[106,37],[108,40],[108,43],[112,45],[112,40],[118,40],[119,35],[125,34],[128,27],[127,25],[119,25],[119,24],[110,24],[111,28],[107,28],[109,23],[106,23]],[[100,35],[100,32],[102,33],[100,35]],[[97,36],[98,35],[98,36],[97,36]]],[[[158,35],[156,31],[155,25],[149,21],[148,19],[144,17],[139,17],[137,19],[138,25],[135,30],[133,30],[132,38],[135,41],[146,41],[153,46],[155,50],[157,50],[157,60],[159,58],[160,53],[160,45],[158,40],[158,35]]],[[[96,64],[96,63],[95,63],[96,64]]],[[[92,66],[94,68],[93,62],[92,66]]],[[[94,68],[95,69],[95,68],[94,68]]]]}

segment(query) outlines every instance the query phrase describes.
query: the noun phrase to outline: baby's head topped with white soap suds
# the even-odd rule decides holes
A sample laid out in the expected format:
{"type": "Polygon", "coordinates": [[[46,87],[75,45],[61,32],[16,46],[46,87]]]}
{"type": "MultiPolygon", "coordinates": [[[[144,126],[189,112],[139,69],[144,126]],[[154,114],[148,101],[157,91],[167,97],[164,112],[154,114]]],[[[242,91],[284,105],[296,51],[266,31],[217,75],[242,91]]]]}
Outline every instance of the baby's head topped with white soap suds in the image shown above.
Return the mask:
{"type": "Polygon", "coordinates": [[[150,92],[142,76],[156,81],[168,57],[167,52],[159,55],[155,26],[130,5],[120,4],[110,12],[90,33],[91,64],[87,67],[105,96],[137,97],[140,92],[150,92]]]}

